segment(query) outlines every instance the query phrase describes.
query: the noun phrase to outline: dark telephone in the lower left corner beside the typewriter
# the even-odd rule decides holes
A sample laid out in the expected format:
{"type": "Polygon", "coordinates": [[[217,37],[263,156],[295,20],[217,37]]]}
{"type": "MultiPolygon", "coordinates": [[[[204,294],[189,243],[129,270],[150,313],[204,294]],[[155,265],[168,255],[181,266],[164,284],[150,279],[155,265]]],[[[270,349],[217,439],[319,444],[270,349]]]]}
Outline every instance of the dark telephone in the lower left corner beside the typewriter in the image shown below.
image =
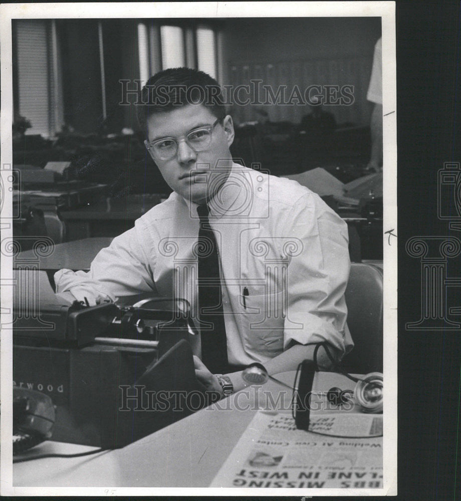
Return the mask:
{"type": "Polygon", "coordinates": [[[54,422],[55,407],[48,395],[13,387],[13,454],[50,438],[54,422]]]}

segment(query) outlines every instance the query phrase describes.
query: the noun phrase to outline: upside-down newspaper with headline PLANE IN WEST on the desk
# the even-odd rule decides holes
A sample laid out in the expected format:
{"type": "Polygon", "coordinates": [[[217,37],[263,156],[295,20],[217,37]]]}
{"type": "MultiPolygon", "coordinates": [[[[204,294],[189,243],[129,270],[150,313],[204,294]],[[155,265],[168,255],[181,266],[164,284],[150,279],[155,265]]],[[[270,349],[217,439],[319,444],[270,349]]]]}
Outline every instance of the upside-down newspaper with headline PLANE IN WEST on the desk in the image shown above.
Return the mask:
{"type": "MultiPolygon", "coordinates": [[[[368,431],[364,435],[375,435],[379,421],[382,430],[382,416],[350,417],[356,420],[357,431],[368,431]]],[[[290,414],[260,411],[210,487],[382,488],[382,438],[319,434],[343,425],[334,415],[317,415],[310,426],[317,433],[310,433],[298,430],[290,414]]]]}

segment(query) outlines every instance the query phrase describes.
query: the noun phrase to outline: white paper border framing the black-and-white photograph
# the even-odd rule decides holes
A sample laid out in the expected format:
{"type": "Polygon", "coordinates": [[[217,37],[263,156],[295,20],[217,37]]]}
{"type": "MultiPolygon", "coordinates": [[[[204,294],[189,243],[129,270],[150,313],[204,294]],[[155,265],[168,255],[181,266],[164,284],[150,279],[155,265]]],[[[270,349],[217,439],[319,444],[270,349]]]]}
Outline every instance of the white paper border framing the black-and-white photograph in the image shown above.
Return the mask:
{"type": "MultiPolygon", "coordinates": [[[[2,4],[0,47],[2,61],[1,163],[2,240],[12,236],[12,166],[13,88],[12,88],[12,19],[54,18],[225,18],[225,17],[381,17],[383,46],[383,372],[384,396],[383,488],[382,489],[213,489],[213,488],[117,488],[116,494],[130,495],[395,495],[397,493],[397,142],[396,142],[396,33],[394,2],[233,2],[233,3],[144,3],[144,4],[2,4]],[[150,15],[148,16],[147,13],[150,15]],[[180,14],[180,16],[178,15],[180,14]],[[387,234],[386,234],[387,233],[387,234]]],[[[1,304],[5,323],[12,322],[13,258],[2,256],[1,304]],[[8,309],[8,311],[7,311],[8,309]]],[[[11,331],[1,333],[1,484],[4,495],[105,495],[105,488],[117,487],[14,487],[12,484],[12,353],[11,331]]]]}

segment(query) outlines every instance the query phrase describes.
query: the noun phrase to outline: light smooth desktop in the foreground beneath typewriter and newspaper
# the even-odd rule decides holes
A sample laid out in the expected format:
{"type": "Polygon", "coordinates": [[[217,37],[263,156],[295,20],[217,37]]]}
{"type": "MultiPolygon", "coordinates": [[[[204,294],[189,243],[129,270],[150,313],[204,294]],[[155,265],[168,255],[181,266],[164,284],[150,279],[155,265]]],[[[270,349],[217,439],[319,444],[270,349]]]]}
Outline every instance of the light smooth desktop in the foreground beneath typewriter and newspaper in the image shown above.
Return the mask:
{"type": "MultiPolygon", "coordinates": [[[[285,372],[277,377],[293,384],[294,375],[294,372],[285,372]]],[[[314,388],[317,389],[325,390],[332,386],[351,389],[353,386],[349,379],[340,374],[319,373],[318,376],[314,381],[314,388]]],[[[14,464],[13,484],[104,488],[207,487],[258,412],[259,406],[271,408],[271,400],[267,398],[269,394],[274,397],[273,402],[277,402],[277,396],[282,394],[283,398],[276,406],[290,408],[291,392],[268,381],[258,390],[255,387],[246,388],[122,449],[93,456],[44,458],[31,463],[14,464]]],[[[306,435],[312,434],[306,432],[306,435]]],[[[91,449],[48,441],[28,454],[71,454],[91,449]]]]}

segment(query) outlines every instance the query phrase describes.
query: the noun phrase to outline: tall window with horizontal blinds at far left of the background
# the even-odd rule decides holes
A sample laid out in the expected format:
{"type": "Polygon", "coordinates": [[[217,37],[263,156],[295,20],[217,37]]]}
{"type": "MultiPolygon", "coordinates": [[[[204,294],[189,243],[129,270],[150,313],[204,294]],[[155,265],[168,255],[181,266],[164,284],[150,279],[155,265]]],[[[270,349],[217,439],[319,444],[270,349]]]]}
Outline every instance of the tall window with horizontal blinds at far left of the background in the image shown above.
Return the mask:
{"type": "Polygon", "coordinates": [[[64,111],[55,21],[17,21],[14,37],[15,111],[31,122],[26,134],[53,136],[62,128],[64,111]]]}

